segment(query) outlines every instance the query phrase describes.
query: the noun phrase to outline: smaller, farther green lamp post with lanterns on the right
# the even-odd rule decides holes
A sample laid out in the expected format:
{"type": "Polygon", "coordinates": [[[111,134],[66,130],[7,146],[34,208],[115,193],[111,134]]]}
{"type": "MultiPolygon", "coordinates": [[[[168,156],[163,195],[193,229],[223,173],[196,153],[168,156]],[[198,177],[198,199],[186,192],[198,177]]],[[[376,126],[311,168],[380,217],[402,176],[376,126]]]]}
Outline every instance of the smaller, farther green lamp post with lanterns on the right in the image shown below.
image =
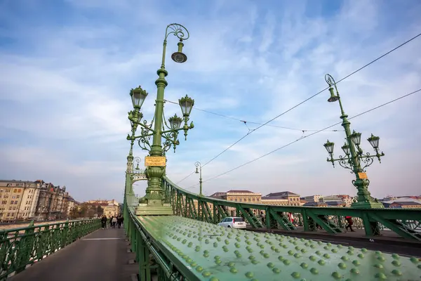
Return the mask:
{"type": "Polygon", "coordinates": [[[327,159],[328,162],[332,162],[333,167],[335,167],[335,162],[339,162],[340,166],[344,167],[345,169],[350,169],[351,173],[355,174],[356,179],[352,181],[352,184],[358,190],[357,192],[357,202],[352,203],[352,207],[356,208],[383,208],[383,204],[377,202],[373,197],[370,196],[370,192],[368,191],[368,185],[370,181],[367,178],[366,174],[366,167],[373,164],[374,157],[380,162],[380,157],[385,156],[385,153],[379,152],[379,140],[378,136],[373,136],[371,134],[370,138],[367,141],[373,146],[375,150],[375,155],[370,155],[370,153],[363,153],[361,149],[361,133],[357,133],[353,131],[351,133],[351,129],[349,129],[349,125],[351,124],[347,117],[348,115],[345,114],[344,109],[342,107],[342,102],[340,100],[338,88],[336,87],[336,82],[330,74],[326,74],[325,80],[329,85],[330,91],[330,98],[328,99],[329,103],[333,103],[335,101],[339,101],[340,106],[340,118],[342,119],[342,126],[345,129],[345,144],[342,145],[342,150],[345,153],[345,156],[340,156],[338,159],[333,158],[333,147],[335,143],[331,143],[327,141],[323,146],[328,151],[330,158],[327,159]],[[335,90],[333,89],[335,87],[335,90]],[[336,91],[336,94],[335,94],[336,91]]]}

